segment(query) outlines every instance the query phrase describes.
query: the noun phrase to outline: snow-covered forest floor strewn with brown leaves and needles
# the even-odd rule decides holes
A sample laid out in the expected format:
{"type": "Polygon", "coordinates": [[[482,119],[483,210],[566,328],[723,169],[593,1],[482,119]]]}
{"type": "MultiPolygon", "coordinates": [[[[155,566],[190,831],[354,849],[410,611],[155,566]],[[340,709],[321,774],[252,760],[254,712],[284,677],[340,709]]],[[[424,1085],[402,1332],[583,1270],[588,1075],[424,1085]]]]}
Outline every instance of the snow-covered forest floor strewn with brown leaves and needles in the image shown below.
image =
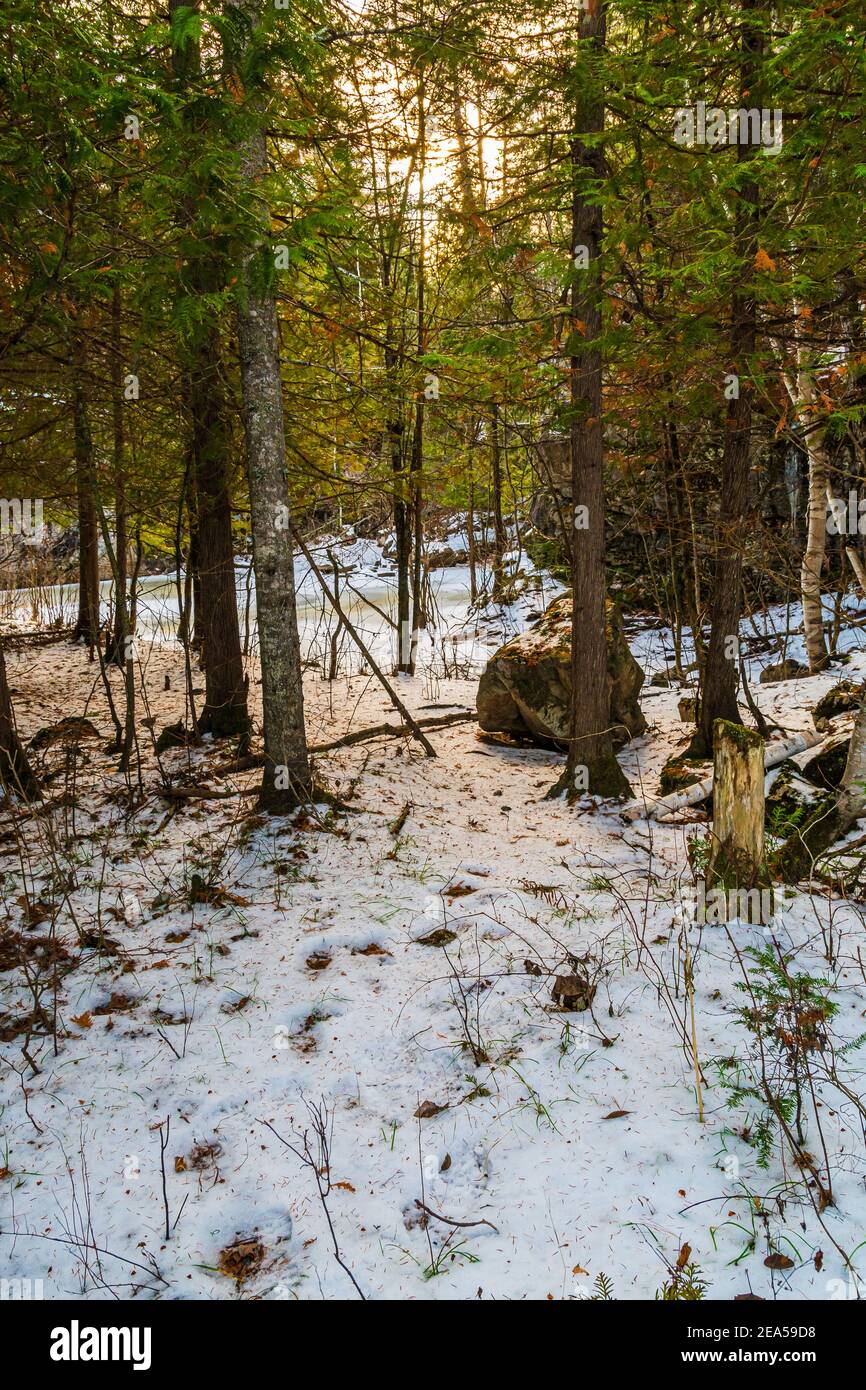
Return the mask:
{"type": "MultiPolygon", "coordinates": [[[[635,638],[648,669],[656,641],[635,638]]],[[[769,938],[689,923],[699,821],[545,801],[560,758],[473,721],[435,730],[435,759],[406,738],[320,758],[350,815],[170,802],[146,749],[129,813],[86,652],[7,662],[26,738],[72,713],[97,737],[40,755],[65,805],[0,826],[4,1277],[49,1298],[342,1298],[350,1270],[368,1298],[559,1300],[603,1276],[614,1298],[652,1300],[680,1259],[709,1298],[855,1295],[860,1115],[827,1083],[822,1133],[806,1126],[824,1209],[777,1138],[760,1166],[760,1105],[714,1062],[738,1058],[744,1084],[755,1068],[738,983],[769,938]],[[553,1004],[569,960],[591,1011],[553,1004]],[[56,1045],[33,1036],[28,1059],[35,1004],[56,1045]],[[307,1106],[327,1109],[327,1168],[307,1106]]],[[[855,655],[844,674],[865,669],[855,655]]],[[[182,656],[156,645],[143,670],[158,730],[183,713],[182,656]]],[[[755,688],[796,733],[840,674],[755,688]]],[[[400,695],[418,714],[471,710],[475,680],[400,695]]],[[[635,791],[655,794],[685,744],[678,695],[644,689],[648,734],[621,755],[635,791]]],[[[310,673],[306,701],[311,742],[395,717],[361,674],[310,673]]],[[[220,774],[229,759],[204,744],[163,764],[254,785],[220,774]]],[[[838,1048],[865,1029],[863,912],[791,892],[771,934],[791,969],[831,981],[840,1076],[862,1093],[866,1052],[838,1048]]]]}

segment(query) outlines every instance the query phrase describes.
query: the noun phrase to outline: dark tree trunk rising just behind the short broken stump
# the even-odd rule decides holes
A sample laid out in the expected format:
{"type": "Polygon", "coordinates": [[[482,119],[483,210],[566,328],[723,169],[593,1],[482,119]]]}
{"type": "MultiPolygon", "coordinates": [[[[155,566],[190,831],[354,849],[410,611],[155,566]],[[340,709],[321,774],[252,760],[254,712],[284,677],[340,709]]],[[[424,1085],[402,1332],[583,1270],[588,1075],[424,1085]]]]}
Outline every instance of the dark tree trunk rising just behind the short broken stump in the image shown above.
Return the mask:
{"type": "MultiPolygon", "coordinates": [[[[760,106],[758,97],[759,64],[763,50],[760,31],[749,22],[762,0],[741,0],[742,63],[741,99],[744,106],[760,106]],[[748,100],[746,100],[748,97],[748,100]]],[[[749,133],[752,133],[749,128],[749,133]]],[[[737,146],[737,163],[755,158],[758,146],[737,146]]],[[[734,218],[734,250],[741,284],[753,274],[758,250],[758,183],[745,177],[740,185],[734,218]]],[[[749,513],[749,478],[752,450],[752,354],[756,338],[756,303],[752,291],[734,291],[731,299],[731,367],[737,377],[737,396],[728,400],[721,455],[721,493],[719,502],[719,539],[716,545],[714,582],[710,596],[710,637],[701,673],[699,723],[689,745],[689,756],[712,752],[717,719],[740,723],[737,705],[738,637],[742,614],[742,552],[749,513]],[[746,375],[748,374],[748,375],[746,375]]]]}

